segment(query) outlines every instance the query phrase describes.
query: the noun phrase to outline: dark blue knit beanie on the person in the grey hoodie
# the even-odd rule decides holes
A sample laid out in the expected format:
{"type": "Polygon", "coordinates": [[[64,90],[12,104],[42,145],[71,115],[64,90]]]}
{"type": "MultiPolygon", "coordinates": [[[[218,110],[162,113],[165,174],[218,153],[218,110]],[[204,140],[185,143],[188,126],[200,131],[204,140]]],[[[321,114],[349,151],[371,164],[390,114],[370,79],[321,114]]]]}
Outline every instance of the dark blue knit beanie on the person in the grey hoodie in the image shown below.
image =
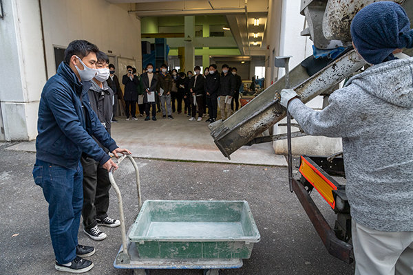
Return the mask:
{"type": "Polygon", "coordinates": [[[413,30],[401,5],[381,1],[360,10],[351,23],[351,36],[357,52],[371,64],[396,59],[392,52],[413,47],[413,30]]]}

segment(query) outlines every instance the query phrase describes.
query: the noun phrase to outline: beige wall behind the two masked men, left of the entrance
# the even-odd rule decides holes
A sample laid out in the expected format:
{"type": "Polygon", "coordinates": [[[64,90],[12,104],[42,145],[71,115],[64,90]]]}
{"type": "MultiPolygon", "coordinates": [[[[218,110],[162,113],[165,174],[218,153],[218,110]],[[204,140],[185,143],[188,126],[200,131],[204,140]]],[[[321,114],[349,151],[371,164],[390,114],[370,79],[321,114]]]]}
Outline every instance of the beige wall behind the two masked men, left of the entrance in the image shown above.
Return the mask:
{"type": "Polygon", "coordinates": [[[41,0],[41,9],[49,77],[56,74],[54,45],[67,47],[75,39],[92,42],[103,52],[111,50],[116,56],[135,59],[138,71],[142,67],[140,19],[127,12],[135,9],[134,4],[41,0]]]}

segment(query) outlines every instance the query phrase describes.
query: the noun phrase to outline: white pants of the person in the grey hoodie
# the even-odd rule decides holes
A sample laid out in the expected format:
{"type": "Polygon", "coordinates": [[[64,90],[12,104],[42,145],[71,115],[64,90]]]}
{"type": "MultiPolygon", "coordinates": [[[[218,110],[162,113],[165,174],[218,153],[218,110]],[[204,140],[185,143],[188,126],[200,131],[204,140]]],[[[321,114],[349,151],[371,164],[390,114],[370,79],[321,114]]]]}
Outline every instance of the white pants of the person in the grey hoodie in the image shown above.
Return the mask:
{"type": "Polygon", "coordinates": [[[352,220],[355,275],[412,275],[413,231],[385,232],[352,220]]]}

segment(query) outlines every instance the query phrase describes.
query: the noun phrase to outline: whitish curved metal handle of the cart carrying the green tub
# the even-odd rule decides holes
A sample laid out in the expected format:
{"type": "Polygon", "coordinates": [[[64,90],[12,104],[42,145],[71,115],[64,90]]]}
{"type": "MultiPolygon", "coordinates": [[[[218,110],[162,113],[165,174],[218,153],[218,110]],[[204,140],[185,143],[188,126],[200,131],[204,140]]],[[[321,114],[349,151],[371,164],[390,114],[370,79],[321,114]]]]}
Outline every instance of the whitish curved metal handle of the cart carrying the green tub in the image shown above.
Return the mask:
{"type": "MultiPolygon", "coordinates": [[[[142,208],[142,199],[140,195],[140,180],[139,180],[139,169],[138,165],[136,165],[135,159],[129,155],[125,154],[122,157],[119,157],[118,161],[116,164],[120,164],[120,162],[123,161],[123,159],[128,158],[132,165],[135,168],[136,172],[136,189],[138,190],[138,204],[139,204],[139,210],[142,208]]],[[[130,257],[129,254],[127,254],[127,240],[126,240],[126,228],[125,228],[125,214],[123,213],[123,201],[122,201],[122,195],[120,195],[120,190],[118,188],[118,185],[116,184],[116,181],[114,179],[114,171],[115,167],[112,166],[112,168],[109,169],[109,181],[110,184],[114,187],[114,190],[116,192],[116,196],[118,197],[118,206],[119,206],[119,215],[120,215],[120,231],[122,233],[122,245],[123,245],[123,252],[119,254],[119,256],[116,258],[116,261],[120,261],[120,263],[129,263],[130,262],[130,257]]]]}

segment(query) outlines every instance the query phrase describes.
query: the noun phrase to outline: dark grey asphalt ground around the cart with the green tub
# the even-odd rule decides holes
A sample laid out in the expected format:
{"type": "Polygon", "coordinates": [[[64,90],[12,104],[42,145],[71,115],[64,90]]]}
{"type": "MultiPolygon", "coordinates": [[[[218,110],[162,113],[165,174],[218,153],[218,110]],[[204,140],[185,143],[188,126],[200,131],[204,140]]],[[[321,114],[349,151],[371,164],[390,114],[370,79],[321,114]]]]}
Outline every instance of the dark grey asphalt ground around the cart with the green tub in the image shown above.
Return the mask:
{"type": "MultiPolygon", "coordinates": [[[[195,123],[195,122],[194,122],[195,123]]],[[[47,203],[33,182],[35,155],[8,151],[0,143],[0,274],[57,274],[50,242],[47,203]],[[17,234],[17,235],[16,235],[17,234]]],[[[326,252],[313,225],[294,194],[288,191],[287,169],[200,162],[165,162],[136,159],[140,168],[143,199],[202,199],[248,201],[261,241],[251,259],[237,270],[223,275],[255,274],[354,274],[354,265],[343,263],[326,252]]],[[[115,173],[123,192],[127,227],[138,213],[134,169],[128,162],[115,173]]],[[[118,217],[116,196],[110,191],[109,214],[118,217]]],[[[313,192],[321,212],[333,224],[335,215],[327,203],[313,192]]],[[[120,228],[103,228],[108,237],[92,241],[79,230],[79,242],[94,245],[90,259],[95,267],[90,275],[131,274],[113,267],[120,247],[120,228]]],[[[60,273],[59,273],[60,274],[60,273]]],[[[62,273],[63,274],[63,273],[62,273]]],[[[195,275],[200,270],[151,270],[153,275],[195,275]]]]}

